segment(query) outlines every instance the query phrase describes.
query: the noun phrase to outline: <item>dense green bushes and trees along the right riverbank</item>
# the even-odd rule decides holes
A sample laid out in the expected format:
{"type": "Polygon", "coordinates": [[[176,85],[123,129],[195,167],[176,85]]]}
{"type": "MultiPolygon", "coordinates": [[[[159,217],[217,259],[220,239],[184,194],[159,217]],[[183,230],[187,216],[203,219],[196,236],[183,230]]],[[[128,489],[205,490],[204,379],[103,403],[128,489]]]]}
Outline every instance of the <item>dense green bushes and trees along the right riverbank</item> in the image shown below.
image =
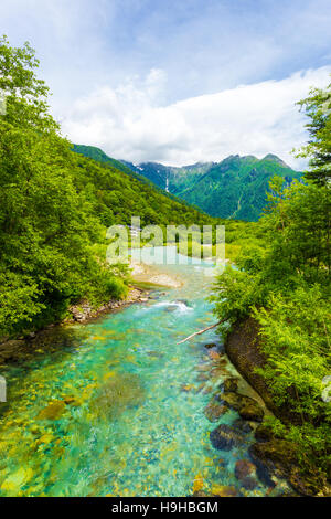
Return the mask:
{"type": "MultiPolygon", "coordinates": [[[[328,96],[330,87],[310,105],[312,126],[328,96]]],[[[330,119],[329,113],[321,133],[311,135],[307,152],[312,153],[312,169],[305,183],[295,181],[282,190],[282,179],[273,179],[258,223],[264,237],[242,248],[238,268],[227,268],[215,287],[221,319],[234,325],[253,316],[258,321],[267,356],[263,377],[276,404],[299,417],[286,427],[279,421],[273,426],[296,443],[302,469],[313,464],[321,485],[331,467],[331,407],[322,399],[331,373],[331,193],[329,158],[319,153],[316,169],[316,150],[330,141],[330,119]]]]}

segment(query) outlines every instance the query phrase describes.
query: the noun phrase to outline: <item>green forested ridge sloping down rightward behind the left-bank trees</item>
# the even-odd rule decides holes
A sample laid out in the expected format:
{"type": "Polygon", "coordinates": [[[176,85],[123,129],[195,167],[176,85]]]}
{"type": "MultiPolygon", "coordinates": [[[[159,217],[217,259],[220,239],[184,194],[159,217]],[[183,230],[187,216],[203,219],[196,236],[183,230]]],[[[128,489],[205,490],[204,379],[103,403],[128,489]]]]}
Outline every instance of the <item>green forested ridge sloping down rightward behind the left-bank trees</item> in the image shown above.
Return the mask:
{"type": "Polygon", "coordinates": [[[98,148],[74,145],[73,149],[81,168],[77,171],[77,182],[82,189],[88,189],[95,211],[104,225],[129,225],[131,216],[140,216],[143,225],[203,225],[213,222],[213,219],[197,208],[158,189],[145,177],[107,157],[98,148]]]}

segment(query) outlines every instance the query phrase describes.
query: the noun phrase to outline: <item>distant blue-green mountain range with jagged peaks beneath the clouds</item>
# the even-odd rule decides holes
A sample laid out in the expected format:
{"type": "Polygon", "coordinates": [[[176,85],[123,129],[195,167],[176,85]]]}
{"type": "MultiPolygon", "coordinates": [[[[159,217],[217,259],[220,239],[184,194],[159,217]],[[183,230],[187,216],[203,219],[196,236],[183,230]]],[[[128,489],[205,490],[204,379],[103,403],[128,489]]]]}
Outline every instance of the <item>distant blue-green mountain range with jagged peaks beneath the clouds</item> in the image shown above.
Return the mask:
{"type": "Polygon", "coordinates": [[[200,208],[211,216],[257,221],[266,205],[266,192],[270,179],[277,174],[286,184],[300,179],[276,155],[263,159],[254,156],[229,156],[221,162],[197,162],[172,167],[158,162],[135,165],[108,157],[99,148],[75,145],[75,151],[117,169],[141,176],[162,190],[200,208]]]}

